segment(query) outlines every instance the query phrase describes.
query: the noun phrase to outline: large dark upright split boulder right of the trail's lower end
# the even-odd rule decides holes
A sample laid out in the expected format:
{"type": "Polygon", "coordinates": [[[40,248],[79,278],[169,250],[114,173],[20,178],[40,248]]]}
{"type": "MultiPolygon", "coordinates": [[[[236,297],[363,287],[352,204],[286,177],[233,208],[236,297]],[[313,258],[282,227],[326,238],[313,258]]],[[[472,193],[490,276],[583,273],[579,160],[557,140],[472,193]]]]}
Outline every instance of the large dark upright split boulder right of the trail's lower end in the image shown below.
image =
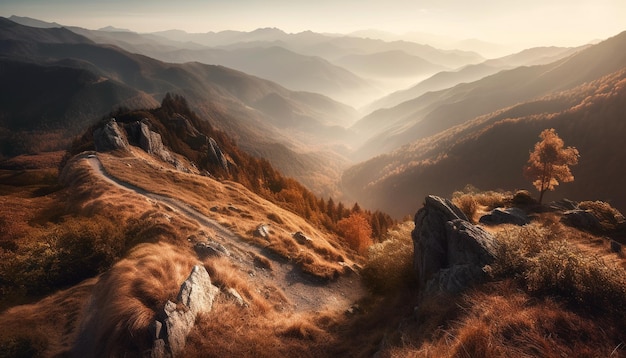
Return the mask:
{"type": "Polygon", "coordinates": [[[413,268],[423,293],[457,293],[486,277],[496,244],[482,228],[447,199],[426,197],[415,214],[413,268]]]}

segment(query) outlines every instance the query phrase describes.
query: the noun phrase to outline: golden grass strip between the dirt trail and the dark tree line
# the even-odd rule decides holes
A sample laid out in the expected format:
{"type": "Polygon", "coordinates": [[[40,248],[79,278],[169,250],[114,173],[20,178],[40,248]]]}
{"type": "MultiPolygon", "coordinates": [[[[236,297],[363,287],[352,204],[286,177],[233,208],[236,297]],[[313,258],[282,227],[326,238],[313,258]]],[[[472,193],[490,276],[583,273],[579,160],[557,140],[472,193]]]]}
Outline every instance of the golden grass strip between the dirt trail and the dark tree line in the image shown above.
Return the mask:
{"type": "Polygon", "coordinates": [[[98,156],[107,172],[114,177],[149,192],[176,198],[239,237],[267,247],[314,276],[336,278],[344,272],[339,262],[351,264],[351,260],[357,260],[336,237],[259,197],[241,184],[181,173],[161,167],[139,150],[133,153],[134,156],[127,157],[98,156]],[[267,224],[268,219],[272,221],[268,239],[254,237],[252,233],[256,227],[267,224]],[[312,240],[305,247],[291,237],[298,231],[312,240]]]}

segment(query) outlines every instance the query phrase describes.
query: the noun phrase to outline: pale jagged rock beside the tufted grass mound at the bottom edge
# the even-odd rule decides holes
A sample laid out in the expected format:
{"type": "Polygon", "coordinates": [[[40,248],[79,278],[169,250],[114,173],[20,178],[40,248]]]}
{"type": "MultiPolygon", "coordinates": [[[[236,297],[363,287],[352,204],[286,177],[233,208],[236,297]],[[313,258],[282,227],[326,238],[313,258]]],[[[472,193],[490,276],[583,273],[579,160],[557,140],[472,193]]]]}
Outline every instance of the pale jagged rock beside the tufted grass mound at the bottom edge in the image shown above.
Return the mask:
{"type": "Polygon", "coordinates": [[[219,289],[211,284],[206,269],[196,265],[183,282],[177,296],[178,305],[167,301],[154,323],[151,357],[176,357],[185,348],[187,335],[199,313],[211,311],[219,289]]]}

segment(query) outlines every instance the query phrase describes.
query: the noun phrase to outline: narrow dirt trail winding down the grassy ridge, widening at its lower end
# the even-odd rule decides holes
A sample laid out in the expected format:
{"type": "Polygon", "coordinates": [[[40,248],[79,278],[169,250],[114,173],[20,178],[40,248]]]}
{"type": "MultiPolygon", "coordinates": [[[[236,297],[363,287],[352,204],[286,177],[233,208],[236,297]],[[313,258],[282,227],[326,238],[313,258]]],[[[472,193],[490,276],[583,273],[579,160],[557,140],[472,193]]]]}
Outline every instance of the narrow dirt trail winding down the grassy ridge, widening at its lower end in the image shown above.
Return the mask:
{"type": "Polygon", "coordinates": [[[360,278],[356,274],[344,275],[331,282],[321,282],[319,279],[301,272],[286,260],[271,254],[263,247],[238,237],[228,228],[180,200],[148,192],[118,180],[106,172],[96,156],[90,155],[85,159],[102,180],[168,206],[172,211],[196,221],[201,227],[217,233],[216,237],[212,239],[224,245],[231,252],[231,261],[241,270],[247,272],[251,280],[256,281],[263,289],[271,290],[273,286],[283,291],[291,303],[291,307],[286,307],[286,309],[297,312],[324,309],[346,310],[365,293],[360,278]],[[271,260],[272,269],[255,266],[253,259],[255,255],[271,260]]]}

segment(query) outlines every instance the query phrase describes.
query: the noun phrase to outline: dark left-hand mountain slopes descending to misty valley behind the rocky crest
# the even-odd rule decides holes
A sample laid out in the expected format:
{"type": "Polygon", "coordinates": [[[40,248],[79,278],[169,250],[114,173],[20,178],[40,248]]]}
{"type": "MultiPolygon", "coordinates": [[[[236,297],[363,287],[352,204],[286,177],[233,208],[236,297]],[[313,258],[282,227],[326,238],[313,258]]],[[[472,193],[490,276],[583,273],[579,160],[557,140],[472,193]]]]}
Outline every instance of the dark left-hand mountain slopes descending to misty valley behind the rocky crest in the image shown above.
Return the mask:
{"type": "Polygon", "coordinates": [[[221,66],[160,62],[63,28],[0,19],[0,43],[4,156],[62,148],[111,109],[155,107],[176,92],[244,150],[329,193],[343,160],[325,148],[343,143],[342,127],[356,119],[319,94],[221,66]]]}

